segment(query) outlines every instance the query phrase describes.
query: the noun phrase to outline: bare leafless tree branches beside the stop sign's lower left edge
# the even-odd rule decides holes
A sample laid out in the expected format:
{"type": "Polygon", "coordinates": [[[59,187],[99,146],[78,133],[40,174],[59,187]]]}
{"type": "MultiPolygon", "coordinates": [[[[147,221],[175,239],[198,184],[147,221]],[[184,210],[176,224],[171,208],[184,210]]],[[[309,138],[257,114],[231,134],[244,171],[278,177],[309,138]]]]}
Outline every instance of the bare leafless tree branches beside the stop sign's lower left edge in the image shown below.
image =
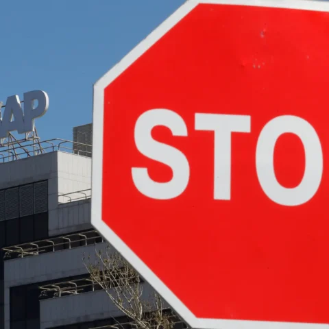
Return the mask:
{"type": "MultiPolygon", "coordinates": [[[[143,294],[143,279],[136,270],[114,249],[107,245],[104,250],[95,250],[96,260],[90,255],[83,261],[90,273],[90,279],[106,292],[112,303],[138,329],[173,329],[175,324],[187,328],[173,310],[165,305],[162,297],[154,292],[151,296],[143,294]]],[[[119,322],[118,328],[121,326],[119,322]]]]}

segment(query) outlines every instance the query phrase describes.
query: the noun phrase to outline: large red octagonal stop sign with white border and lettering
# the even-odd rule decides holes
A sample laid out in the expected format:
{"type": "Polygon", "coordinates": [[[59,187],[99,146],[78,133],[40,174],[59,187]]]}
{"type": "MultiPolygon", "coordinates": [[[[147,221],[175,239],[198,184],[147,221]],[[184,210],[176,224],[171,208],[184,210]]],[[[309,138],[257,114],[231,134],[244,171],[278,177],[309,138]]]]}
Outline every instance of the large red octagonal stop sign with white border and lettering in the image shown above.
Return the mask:
{"type": "Polygon", "coordinates": [[[186,1],[95,84],[93,226],[193,328],[328,328],[328,11],[186,1]]]}

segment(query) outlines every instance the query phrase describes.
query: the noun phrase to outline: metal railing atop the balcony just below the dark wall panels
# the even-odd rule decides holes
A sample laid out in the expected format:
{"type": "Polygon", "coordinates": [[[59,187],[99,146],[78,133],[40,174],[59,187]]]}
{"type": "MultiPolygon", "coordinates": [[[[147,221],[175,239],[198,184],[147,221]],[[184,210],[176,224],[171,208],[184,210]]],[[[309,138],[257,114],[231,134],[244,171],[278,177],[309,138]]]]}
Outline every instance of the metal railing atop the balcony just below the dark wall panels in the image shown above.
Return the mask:
{"type": "Polygon", "coordinates": [[[57,252],[62,249],[71,249],[73,247],[82,247],[84,245],[93,245],[104,242],[103,237],[95,230],[86,230],[75,234],[49,238],[33,243],[22,243],[21,245],[12,245],[2,248],[5,255],[4,260],[12,258],[24,258],[27,256],[36,256],[47,252],[57,252]]]}

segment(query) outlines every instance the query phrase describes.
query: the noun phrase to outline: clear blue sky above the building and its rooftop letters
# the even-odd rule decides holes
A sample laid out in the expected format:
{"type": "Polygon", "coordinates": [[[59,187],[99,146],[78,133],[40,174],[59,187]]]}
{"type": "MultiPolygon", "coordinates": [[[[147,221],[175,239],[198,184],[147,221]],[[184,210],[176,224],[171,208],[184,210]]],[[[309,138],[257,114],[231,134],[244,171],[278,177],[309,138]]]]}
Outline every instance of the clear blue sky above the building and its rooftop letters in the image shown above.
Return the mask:
{"type": "Polygon", "coordinates": [[[45,90],[42,140],[72,139],[92,120],[93,84],[184,0],[10,0],[1,3],[0,100],[45,90]]]}

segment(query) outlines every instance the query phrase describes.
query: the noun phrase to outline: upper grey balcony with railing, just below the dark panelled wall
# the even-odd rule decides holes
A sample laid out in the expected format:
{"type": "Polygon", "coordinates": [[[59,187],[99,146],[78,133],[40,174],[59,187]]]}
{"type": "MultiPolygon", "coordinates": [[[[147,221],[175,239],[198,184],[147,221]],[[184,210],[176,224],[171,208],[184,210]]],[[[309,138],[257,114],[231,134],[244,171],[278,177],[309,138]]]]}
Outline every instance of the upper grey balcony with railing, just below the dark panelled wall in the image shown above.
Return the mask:
{"type": "Polygon", "coordinates": [[[93,259],[95,249],[105,247],[106,242],[95,230],[5,247],[5,289],[84,275],[84,254],[93,259]]]}

